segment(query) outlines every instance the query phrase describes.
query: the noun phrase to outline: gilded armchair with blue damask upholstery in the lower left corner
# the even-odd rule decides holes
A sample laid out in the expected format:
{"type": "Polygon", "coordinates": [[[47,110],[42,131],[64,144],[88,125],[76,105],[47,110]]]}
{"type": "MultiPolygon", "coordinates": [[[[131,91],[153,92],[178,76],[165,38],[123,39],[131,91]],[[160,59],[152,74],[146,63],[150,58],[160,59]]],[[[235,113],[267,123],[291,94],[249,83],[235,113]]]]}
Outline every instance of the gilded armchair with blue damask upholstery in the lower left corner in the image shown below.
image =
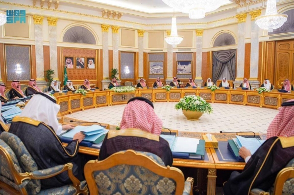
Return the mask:
{"type": "Polygon", "coordinates": [[[38,170],[32,156],[23,142],[14,134],[0,134],[0,194],[9,195],[87,195],[86,182],[74,177],[73,164],[58,165],[46,170],[38,170]],[[72,185],[51,189],[41,189],[40,179],[53,177],[67,171],[72,185]]]}

